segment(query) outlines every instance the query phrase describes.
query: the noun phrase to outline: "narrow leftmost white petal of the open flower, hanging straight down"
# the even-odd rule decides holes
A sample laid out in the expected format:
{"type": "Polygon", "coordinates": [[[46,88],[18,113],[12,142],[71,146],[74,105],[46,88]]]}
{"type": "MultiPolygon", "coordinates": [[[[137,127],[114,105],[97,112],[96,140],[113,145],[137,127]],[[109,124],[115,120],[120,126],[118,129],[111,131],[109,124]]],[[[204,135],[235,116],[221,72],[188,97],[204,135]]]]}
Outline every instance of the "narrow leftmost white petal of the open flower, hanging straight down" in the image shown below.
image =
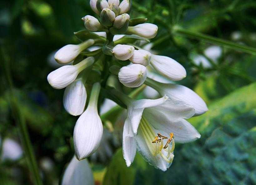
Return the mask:
{"type": "Polygon", "coordinates": [[[136,154],[136,141],[130,126],[129,119],[126,119],[123,130],[123,156],[126,165],[129,167],[136,154]]]}

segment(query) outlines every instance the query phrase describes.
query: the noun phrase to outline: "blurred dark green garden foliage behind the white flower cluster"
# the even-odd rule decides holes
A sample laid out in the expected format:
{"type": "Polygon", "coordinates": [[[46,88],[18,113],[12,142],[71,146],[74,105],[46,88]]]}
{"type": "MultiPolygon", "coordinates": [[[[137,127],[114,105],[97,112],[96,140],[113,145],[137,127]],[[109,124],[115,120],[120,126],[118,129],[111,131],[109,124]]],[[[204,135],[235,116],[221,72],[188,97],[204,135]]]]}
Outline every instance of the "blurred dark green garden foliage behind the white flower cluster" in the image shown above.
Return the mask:
{"type": "MultiPolygon", "coordinates": [[[[139,154],[126,167],[125,113],[104,114],[115,103],[102,101],[104,143],[89,158],[95,184],[256,184],[256,1],[132,3],[131,18],[159,27],[145,47],[179,61],[187,78],[178,83],[197,92],[209,111],[190,118],[202,137],[176,145],[173,164],[162,172],[139,154]]],[[[64,89],[53,89],[47,75],[59,67],[56,50],[79,43],[73,32],[85,29],[85,15],[96,16],[89,0],[0,2],[0,185],[32,185],[36,173],[43,184],[57,185],[73,157],[78,117],[64,110],[64,89]]],[[[139,94],[157,96],[152,89],[139,94]]]]}

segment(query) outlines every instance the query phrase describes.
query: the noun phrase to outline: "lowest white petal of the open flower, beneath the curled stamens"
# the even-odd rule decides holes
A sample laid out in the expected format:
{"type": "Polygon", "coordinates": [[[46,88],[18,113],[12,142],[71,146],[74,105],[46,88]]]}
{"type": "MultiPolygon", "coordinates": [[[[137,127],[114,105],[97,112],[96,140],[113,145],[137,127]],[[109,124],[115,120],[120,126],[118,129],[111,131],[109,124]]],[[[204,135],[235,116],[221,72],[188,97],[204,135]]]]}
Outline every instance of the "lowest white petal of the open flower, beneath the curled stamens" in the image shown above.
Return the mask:
{"type": "Polygon", "coordinates": [[[138,130],[138,134],[136,135],[136,141],[137,151],[143,157],[143,159],[147,161],[150,165],[153,165],[155,168],[158,168],[162,171],[166,171],[170,167],[172,163],[167,163],[162,157],[159,156],[159,154],[153,156],[150,153],[150,150],[146,144],[146,141],[140,129],[138,130]]]}

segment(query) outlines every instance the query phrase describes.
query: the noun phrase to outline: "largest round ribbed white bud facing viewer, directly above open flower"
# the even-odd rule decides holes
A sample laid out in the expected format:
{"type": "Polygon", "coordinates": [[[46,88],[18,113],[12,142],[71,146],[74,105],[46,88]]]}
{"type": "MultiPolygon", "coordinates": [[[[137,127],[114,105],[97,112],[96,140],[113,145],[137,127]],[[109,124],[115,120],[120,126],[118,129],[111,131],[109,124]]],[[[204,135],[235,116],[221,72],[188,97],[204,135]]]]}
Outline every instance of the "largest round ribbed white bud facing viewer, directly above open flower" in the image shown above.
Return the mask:
{"type": "Polygon", "coordinates": [[[126,87],[139,87],[147,78],[147,69],[144,65],[130,64],[120,69],[118,78],[119,81],[126,87]]]}

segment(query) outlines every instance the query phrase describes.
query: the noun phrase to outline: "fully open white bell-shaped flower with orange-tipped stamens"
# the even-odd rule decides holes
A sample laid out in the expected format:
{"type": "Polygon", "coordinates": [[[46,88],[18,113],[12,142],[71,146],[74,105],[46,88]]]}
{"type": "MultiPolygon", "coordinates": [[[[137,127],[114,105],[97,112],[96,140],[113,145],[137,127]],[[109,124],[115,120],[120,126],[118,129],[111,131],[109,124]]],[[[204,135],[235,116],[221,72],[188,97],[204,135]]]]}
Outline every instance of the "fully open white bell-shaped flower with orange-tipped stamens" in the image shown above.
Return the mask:
{"type": "Polygon", "coordinates": [[[194,115],[192,106],[170,101],[167,96],[155,100],[125,98],[123,155],[127,166],[133,162],[137,148],[149,164],[165,171],[174,158],[174,141],[187,143],[200,138],[197,130],[184,119],[194,115]]]}

